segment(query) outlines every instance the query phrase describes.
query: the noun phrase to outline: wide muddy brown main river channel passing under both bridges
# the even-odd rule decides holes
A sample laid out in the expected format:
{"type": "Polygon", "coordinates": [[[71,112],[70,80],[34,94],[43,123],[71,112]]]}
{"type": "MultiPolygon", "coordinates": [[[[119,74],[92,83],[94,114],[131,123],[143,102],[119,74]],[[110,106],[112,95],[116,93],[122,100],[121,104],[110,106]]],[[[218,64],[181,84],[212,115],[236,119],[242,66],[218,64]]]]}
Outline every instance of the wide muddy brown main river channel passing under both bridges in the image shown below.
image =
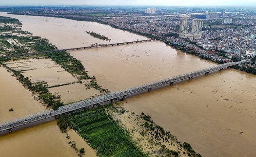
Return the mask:
{"type": "MultiPolygon", "coordinates": [[[[95,22],[53,17],[11,16],[22,29],[62,48],[145,39],[95,22]],[[38,29],[40,28],[40,29],[38,29]]],[[[178,52],[159,41],[70,51],[100,86],[124,90],[173,75],[216,65],[178,52]]],[[[256,76],[228,69],[126,99],[124,107],[144,112],[178,140],[187,141],[204,157],[254,157],[256,153],[256,76]]],[[[54,126],[53,126],[54,127],[54,126]]],[[[52,139],[54,140],[54,139],[52,139]]]]}

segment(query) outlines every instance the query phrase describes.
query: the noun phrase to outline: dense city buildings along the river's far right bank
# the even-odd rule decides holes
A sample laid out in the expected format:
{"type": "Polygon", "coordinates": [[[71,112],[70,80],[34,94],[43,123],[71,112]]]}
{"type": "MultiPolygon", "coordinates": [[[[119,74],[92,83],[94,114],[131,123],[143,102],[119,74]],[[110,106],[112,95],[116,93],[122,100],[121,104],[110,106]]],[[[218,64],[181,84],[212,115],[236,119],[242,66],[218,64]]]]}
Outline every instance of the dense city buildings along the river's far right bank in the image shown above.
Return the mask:
{"type": "MultiPolygon", "coordinates": [[[[22,10],[16,11],[15,14],[96,21],[139,35],[158,38],[181,51],[217,63],[250,59],[254,55],[253,52],[256,51],[254,36],[256,35],[256,13],[254,10],[230,8],[224,12],[220,8],[212,9],[206,15],[205,8],[174,9],[176,12],[158,8],[157,16],[145,16],[144,9],[138,11],[137,8],[134,10],[115,8],[112,9],[114,14],[109,14],[108,9],[101,9],[103,13],[104,11],[108,13],[102,16],[92,16],[93,12],[98,12],[98,9],[94,8],[88,9],[90,13],[87,13],[88,10],[80,10],[80,14],[75,14],[70,9],[59,10],[59,8],[48,10],[42,8],[39,12],[22,10]],[[224,23],[224,18],[232,18],[232,23],[224,23]],[[196,22],[200,20],[201,23],[196,22]],[[194,25],[196,23],[195,26],[193,26],[193,21],[194,25]],[[252,53],[246,53],[247,51],[252,53]]],[[[256,67],[255,62],[241,66],[256,67]]]]}

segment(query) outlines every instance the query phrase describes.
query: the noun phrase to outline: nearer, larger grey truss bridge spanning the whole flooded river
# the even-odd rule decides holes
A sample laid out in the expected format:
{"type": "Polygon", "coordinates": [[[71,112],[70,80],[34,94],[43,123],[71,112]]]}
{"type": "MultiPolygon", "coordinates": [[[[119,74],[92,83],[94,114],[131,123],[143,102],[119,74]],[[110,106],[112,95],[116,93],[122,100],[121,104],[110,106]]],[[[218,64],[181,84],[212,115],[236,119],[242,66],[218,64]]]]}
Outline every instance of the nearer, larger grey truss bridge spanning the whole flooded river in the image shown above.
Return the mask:
{"type": "Polygon", "coordinates": [[[229,63],[217,65],[217,66],[206,68],[206,69],[197,70],[197,71],[173,76],[170,78],[152,82],[150,84],[145,84],[145,85],[141,85],[141,86],[137,86],[137,87],[128,88],[124,91],[117,91],[117,92],[101,95],[101,96],[98,96],[95,98],[83,100],[83,101],[80,101],[77,103],[64,105],[64,106],[59,107],[59,109],[55,110],[55,111],[53,109],[50,109],[50,110],[40,112],[40,113],[37,113],[34,115],[29,115],[29,116],[26,116],[23,118],[19,118],[19,119],[13,120],[13,121],[3,122],[3,123],[0,123],[0,134],[6,134],[8,132],[10,133],[10,132],[12,132],[13,129],[18,130],[18,128],[22,128],[24,126],[30,126],[30,125],[35,125],[35,124],[39,124],[42,122],[51,121],[51,120],[54,120],[55,118],[57,118],[61,114],[71,113],[76,110],[87,109],[87,108],[91,108],[91,107],[98,106],[98,105],[109,104],[109,103],[112,103],[113,101],[125,99],[125,97],[127,95],[131,95],[134,93],[138,94],[139,92],[142,92],[142,91],[151,91],[153,88],[161,87],[161,86],[167,85],[167,84],[172,85],[174,82],[181,81],[184,79],[190,80],[194,76],[208,74],[211,71],[223,70],[224,68],[230,68],[231,66],[234,66],[234,65],[237,65],[240,63],[241,62],[229,62],[229,63]]]}

